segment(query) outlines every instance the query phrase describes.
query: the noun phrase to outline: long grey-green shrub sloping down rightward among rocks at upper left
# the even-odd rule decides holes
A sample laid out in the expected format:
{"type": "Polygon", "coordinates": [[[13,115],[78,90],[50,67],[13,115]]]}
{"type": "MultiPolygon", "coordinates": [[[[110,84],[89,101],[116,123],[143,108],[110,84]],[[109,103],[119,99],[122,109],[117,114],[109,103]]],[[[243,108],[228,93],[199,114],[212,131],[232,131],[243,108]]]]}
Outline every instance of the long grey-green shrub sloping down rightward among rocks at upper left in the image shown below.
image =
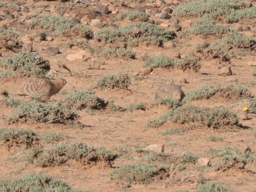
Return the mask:
{"type": "Polygon", "coordinates": [[[27,29],[41,28],[50,30],[55,34],[65,34],[66,36],[78,35],[82,38],[92,38],[93,31],[89,26],[76,24],[72,20],[58,15],[38,16],[27,24],[27,29]]]}

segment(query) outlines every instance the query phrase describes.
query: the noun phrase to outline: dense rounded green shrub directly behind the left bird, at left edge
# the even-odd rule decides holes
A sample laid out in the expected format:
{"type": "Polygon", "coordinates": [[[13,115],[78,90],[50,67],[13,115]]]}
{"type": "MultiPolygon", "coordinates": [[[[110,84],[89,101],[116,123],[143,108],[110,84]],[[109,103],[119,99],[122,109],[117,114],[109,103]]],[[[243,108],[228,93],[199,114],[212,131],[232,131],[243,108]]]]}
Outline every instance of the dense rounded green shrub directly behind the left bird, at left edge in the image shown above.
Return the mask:
{"type": "Polygon", "coordinates": [[[22,51],[15,56],[3,58],[0,62],[6,70],[22,76],[44,76],[50,70],[49,61],[42,58],[39,52],[22,51]]]}

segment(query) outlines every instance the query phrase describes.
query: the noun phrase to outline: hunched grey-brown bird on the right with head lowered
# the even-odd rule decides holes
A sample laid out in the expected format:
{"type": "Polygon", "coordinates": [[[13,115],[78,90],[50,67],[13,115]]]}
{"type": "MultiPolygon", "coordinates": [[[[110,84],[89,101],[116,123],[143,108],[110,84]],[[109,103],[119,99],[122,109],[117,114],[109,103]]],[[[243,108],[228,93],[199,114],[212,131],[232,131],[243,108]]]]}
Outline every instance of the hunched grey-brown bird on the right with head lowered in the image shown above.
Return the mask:
{"type": "Polygon", "coordinates": [[[155,99],[163,99],[163,98],[176,98],[178,100],[182,100],[185,94],[182,91],[181,87],[175,85],[173,82],[168,85],[159,86],[155,99]]]}

